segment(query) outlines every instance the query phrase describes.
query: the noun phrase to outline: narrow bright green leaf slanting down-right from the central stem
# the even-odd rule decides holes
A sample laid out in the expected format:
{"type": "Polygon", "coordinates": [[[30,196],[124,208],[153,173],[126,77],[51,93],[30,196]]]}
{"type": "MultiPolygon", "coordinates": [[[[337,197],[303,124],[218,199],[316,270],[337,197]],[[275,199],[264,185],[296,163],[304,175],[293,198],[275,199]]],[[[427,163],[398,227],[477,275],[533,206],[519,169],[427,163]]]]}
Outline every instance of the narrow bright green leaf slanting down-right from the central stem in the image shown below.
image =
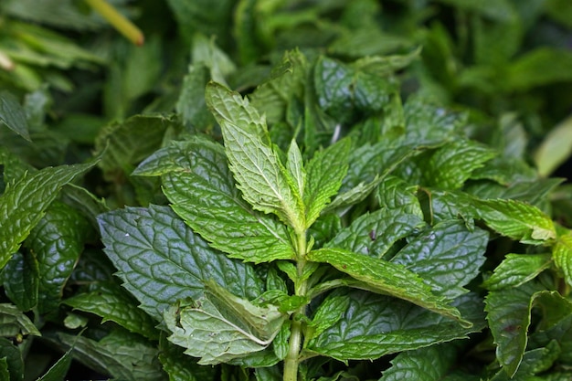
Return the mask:
{"type": "Polygon", "coordinates": [[[318,249],[308,253],[308,259],[329,263],[356,280],[361,280],[372,291],[385,293],[412,302],[429,311],[437,312],[462,325],[471,325],[460,312],[449,305],[449,300],[431,292],[418,275],[404,266],[382,259],[367,257],[345,249],[318,249]]]}

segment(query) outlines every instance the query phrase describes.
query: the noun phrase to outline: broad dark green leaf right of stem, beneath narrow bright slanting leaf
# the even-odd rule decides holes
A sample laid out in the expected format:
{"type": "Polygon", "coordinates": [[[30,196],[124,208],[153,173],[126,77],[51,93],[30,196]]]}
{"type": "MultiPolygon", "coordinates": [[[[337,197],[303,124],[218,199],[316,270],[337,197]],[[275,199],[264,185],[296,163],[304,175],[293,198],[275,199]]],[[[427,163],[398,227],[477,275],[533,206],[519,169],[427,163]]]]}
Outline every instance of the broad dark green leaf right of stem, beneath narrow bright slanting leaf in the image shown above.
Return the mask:
{"type": "MultiPolygon", "coordinates": [[[[337,295],[334,292],[328,298],[337,295]]],[[[344,294],[342,294],[344,295],[344,294]]],[[[340,319],[307,345],[310,354],[345,361],[375,359],[382,355],[418,349],[466,338],[484,328],[482,302],[473,294],[454,304],[473,323],[470,329],[440,314],[386,295],[349,291],[349,305],[340,319]]],[[[304,352],[302,352],[304,355],[304,352]]]]}

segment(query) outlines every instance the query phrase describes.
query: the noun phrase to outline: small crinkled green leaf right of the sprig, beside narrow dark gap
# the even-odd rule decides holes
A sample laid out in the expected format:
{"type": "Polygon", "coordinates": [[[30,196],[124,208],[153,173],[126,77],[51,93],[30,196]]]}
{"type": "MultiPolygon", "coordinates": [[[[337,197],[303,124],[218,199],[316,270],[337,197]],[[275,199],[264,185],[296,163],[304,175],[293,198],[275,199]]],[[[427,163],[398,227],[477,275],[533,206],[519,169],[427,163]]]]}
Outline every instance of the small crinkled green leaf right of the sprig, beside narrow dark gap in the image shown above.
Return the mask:
{"type": "Polygon", "coordinates": [[[423,217],[417,191],[418,185],[409,185],[397,176],[388,175],[379,184],[376,196],[381,207],[401,209],[410,215],[423,217]]]}

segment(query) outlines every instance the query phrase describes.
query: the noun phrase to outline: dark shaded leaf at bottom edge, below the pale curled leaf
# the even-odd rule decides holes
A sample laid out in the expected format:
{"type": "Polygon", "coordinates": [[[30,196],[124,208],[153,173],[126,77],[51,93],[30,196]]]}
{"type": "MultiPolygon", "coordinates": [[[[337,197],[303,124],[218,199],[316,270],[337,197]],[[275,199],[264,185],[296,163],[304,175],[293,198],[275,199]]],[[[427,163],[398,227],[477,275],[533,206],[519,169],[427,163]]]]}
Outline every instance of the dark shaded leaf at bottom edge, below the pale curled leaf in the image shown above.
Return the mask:
{"type": "Polygon", "coordinates": [[[159,341],[159,361],[169,381],[217,381],[217,368],[198,365],[185,355],[183,348],[169,342],[165,335],[159,341]]]}

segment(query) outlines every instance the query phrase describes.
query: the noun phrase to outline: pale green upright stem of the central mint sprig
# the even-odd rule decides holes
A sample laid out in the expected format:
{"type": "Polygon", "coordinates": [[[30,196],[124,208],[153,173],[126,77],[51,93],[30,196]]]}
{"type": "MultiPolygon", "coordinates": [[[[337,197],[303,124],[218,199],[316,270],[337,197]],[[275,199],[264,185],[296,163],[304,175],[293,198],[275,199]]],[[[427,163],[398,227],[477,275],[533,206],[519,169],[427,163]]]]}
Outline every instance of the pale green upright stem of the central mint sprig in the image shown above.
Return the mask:
{"type": "MultiPolygon", "coordinates": [[[[306,266],[306,232],[297,234],[298,262],[296,268],[298,270],[298,281],[294,284],[296,295],[305,296],[308,291],[308,281],[302,280],[302,273],[306,266]]],[[[291,332],[289,340],[289,350],[286,359],[284,359],[284,381],[298,381],[298,365],[300,365],[300,350],[303,342],[302,322],[297,316],[304,315],[306,307],[300,307],[292,314],[291,332]]]]}

